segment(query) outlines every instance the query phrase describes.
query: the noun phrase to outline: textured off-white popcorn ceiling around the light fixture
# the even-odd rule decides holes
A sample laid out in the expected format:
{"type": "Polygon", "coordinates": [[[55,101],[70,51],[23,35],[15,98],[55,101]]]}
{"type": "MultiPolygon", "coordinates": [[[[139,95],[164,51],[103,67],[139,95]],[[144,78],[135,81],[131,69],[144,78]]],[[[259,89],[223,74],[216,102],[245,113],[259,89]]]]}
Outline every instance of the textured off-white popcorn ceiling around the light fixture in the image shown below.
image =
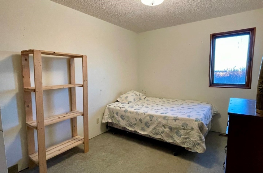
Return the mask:
{"type": "Polygon", "coordinates": [[[164,0],[158,6],[140,0],[52,1],[137,33],[263,8],[263,0],[164,0]]]}

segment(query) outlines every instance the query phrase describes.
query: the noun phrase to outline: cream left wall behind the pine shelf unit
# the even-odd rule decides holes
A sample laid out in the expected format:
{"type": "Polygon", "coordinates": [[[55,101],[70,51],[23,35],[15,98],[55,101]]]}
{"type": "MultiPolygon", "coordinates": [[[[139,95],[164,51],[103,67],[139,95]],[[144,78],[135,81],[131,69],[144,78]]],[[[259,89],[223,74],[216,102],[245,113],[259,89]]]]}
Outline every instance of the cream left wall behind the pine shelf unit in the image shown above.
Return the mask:
{"type": "MultiPolygon", "coordinates": [[[[8,167],[17,163],[19,170],[28,167],[21,50],[88,56],[90,138],[106,131],[105,124],[96,124],[96,118],[101,121],[105,106],[128,90],[137,90],[135,32],[49,0],[1,1],[0,23],[0,104],[8,167]]],[[[30,63],[33,75],[32,57],[30,63]]],[[[68,83],[67,66],[65,58],[44,58],[43,85],[68,83]]],[[[76,82],[82,82],[81,66],[79,59],[76,61],[76,82]]],[[[33,83],[33,77],[31,79],[33,83]]],[[[80,110],[81,90],[77,89],[80,110]]],[[[68,89],[44,91],[44,105],[45,116],[69,111],[68,89]]],[[[82,117],[78,124],[79,134],[83,135],[82,117]]],[[[45,132],[47,146],[68,139],[71,137],[70,120],[47,126],[45,132]]]]}

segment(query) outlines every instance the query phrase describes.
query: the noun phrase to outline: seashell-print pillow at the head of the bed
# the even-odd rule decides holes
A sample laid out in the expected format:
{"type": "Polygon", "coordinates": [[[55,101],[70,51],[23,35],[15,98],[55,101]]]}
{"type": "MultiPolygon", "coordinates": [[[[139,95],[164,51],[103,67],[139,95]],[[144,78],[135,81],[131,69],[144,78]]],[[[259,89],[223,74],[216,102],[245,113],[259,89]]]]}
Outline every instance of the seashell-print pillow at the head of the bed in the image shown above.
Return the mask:
{"type": "Polygon", "coordinates": [[[132,103],[135,103],[135,102],[137,102],[141,99],[144,99],[144,98],[146,98],[146,96],[143,95],[142,93],[131,90],[131,91],[121,95],[117,100],[119,102],[122,102],[122,103],[132,104],[132,103]]]}

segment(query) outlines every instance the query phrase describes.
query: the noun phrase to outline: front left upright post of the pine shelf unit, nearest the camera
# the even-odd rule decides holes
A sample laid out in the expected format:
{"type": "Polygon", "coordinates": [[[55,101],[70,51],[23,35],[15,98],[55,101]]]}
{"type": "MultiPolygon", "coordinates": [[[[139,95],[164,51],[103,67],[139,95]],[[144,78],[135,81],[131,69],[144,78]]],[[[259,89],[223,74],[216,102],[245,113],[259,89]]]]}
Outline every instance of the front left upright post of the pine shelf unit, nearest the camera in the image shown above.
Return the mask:
{"type": "Polygon", "coordinates": [[[38,160],[39,172],[46,173],[46,151],[45,151],[45,124],[43,109],[43,86],[42,86],[42,60],[41,51],[33,50],[34,56],[34,74],[36,90],[36,112],[37,112],[37,142],[38,142],[38,160]]]}

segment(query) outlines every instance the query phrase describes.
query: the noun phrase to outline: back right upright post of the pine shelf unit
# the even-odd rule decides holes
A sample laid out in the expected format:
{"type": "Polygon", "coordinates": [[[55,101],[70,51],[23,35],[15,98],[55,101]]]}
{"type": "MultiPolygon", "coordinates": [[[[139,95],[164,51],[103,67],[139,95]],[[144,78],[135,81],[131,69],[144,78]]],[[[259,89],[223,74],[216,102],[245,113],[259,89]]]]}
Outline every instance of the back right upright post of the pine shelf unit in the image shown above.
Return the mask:
{"type": "MultiPolygon", "coordinates": [[[[70,83],[75,82],[75,58],[70,58],[70,83]]],[[[77,110],[76,105],[76,87],[71,87],[71,111],[77,110]]],[[[72,129],[72,137],[78,135],[78,128],[77,128],[77,117],[71,118],[71,129],[72,129]]]]}

